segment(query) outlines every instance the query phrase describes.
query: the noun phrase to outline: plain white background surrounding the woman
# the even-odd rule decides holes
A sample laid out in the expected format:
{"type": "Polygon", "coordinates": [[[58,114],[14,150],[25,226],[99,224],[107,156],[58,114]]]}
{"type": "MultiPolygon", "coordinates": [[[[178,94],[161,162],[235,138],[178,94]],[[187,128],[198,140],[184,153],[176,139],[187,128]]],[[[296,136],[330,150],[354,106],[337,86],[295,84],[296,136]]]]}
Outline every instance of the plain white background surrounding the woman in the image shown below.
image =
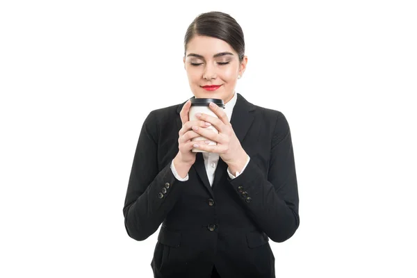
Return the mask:
{"type": "Polygon", "coordinates": [[[122,208],[143,120],[192,93],[183,37],[245,33],[236,91],[291,126],[277,277],[417,277],[415,1],[1,1],[1,277],[152,277],[122,208]]]}

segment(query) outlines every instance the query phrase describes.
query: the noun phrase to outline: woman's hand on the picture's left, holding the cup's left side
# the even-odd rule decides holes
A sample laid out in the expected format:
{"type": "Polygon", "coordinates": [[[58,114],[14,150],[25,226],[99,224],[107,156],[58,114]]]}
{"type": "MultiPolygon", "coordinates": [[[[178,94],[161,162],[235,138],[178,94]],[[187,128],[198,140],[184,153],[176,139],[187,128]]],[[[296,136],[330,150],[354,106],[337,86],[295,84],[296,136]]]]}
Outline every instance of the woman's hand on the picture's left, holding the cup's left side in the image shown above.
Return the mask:
{"type": "MultiPolygon", "coordinates": [[[[193,126],[201,126],[207,127],[211,124],[208,122],[204,122],[201,120],[190,121],[188,117],[188,112],[190,111],[191,101],[188,100],[186,104],[184,104],[179,116],[181,117],[182,128],[179,130],[179,138],[178,138],[178,149],[179,152],[177,156],[174,158],[174,165],[177,169],[177,165],[186,165],[189,168],[195,163],[195,155],[197,153],[191,152],[191,149],[194,149],[194,144],[201,145],[205,144],[204,140],[201,141],[193,141],[191,139],[201,136],[199,133],[193,131],[193,126]],[[206,124],[207,123],[207,124],[206,124]]],[[[188,172],[188,170],[184,172],[188,172]]],[[[177,169],[179,172],[179,169],[177,169]]],[[[184,176],[184,175],[181,175],[184,176]]]]}

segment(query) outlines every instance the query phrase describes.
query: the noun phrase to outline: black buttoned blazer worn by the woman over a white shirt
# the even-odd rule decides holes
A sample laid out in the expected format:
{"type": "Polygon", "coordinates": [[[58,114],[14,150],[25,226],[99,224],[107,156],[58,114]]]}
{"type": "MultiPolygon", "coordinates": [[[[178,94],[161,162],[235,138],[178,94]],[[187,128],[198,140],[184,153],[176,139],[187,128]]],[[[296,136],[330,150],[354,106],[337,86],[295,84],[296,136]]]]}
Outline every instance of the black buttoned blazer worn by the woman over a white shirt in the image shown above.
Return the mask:
{"type": "Polygon", "coordinates": [[[268,238],[287,240],[300,224],[291,132],[279,111],[238,94],[230,122],[247,167],[236,179],[219,158],[213,187],[202,153],[179,181],[177,155],[185,104],[152,111],[142,125],[123,214],[127,234],[145,240],[158,229],[151,265],[155,277],[275,277],[268,238]]]}

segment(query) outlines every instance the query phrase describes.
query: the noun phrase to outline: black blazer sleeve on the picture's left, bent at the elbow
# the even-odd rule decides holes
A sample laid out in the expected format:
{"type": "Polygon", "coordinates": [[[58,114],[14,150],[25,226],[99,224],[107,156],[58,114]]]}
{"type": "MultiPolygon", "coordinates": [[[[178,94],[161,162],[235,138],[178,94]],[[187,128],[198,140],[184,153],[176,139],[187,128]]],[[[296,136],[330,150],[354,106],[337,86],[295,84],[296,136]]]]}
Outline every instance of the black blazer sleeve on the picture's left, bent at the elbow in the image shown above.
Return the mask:
{"type": "Polygon", "coordinates": [[[154,234],[188,183],[174,177],[170,164],[158,170],[158,123],[152,111],[140,131],[123,207],[124,226],[135,240],[154,234]]]}

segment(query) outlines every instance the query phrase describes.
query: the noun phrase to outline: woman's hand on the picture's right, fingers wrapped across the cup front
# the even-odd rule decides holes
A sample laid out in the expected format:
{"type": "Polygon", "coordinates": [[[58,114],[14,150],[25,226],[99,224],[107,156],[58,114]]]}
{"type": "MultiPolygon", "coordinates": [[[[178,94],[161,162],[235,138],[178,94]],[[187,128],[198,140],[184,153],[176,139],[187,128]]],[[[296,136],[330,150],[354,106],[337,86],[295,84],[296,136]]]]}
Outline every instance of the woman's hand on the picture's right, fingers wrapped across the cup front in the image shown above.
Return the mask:
{"type": "Polygon", "coordinates": [[[242,145],[240,145],[239,139],[236,137],[223,109],[213,103],[211,103],[209,107],[218,118],[204,113],[197,113],[196,117],[199,120],[210,122],[219,133],[214,133],[210,129],[204,129],[199,126],[193,126],[193,130],[208,140],[217,142],[217,145],[200,145],[197,149],[219,154],[222,160],[227,163],[230,168],[233,167],[236,168],[237,171],[240,171],[240,168],[246,163],[247,154],[242,145]]]}

